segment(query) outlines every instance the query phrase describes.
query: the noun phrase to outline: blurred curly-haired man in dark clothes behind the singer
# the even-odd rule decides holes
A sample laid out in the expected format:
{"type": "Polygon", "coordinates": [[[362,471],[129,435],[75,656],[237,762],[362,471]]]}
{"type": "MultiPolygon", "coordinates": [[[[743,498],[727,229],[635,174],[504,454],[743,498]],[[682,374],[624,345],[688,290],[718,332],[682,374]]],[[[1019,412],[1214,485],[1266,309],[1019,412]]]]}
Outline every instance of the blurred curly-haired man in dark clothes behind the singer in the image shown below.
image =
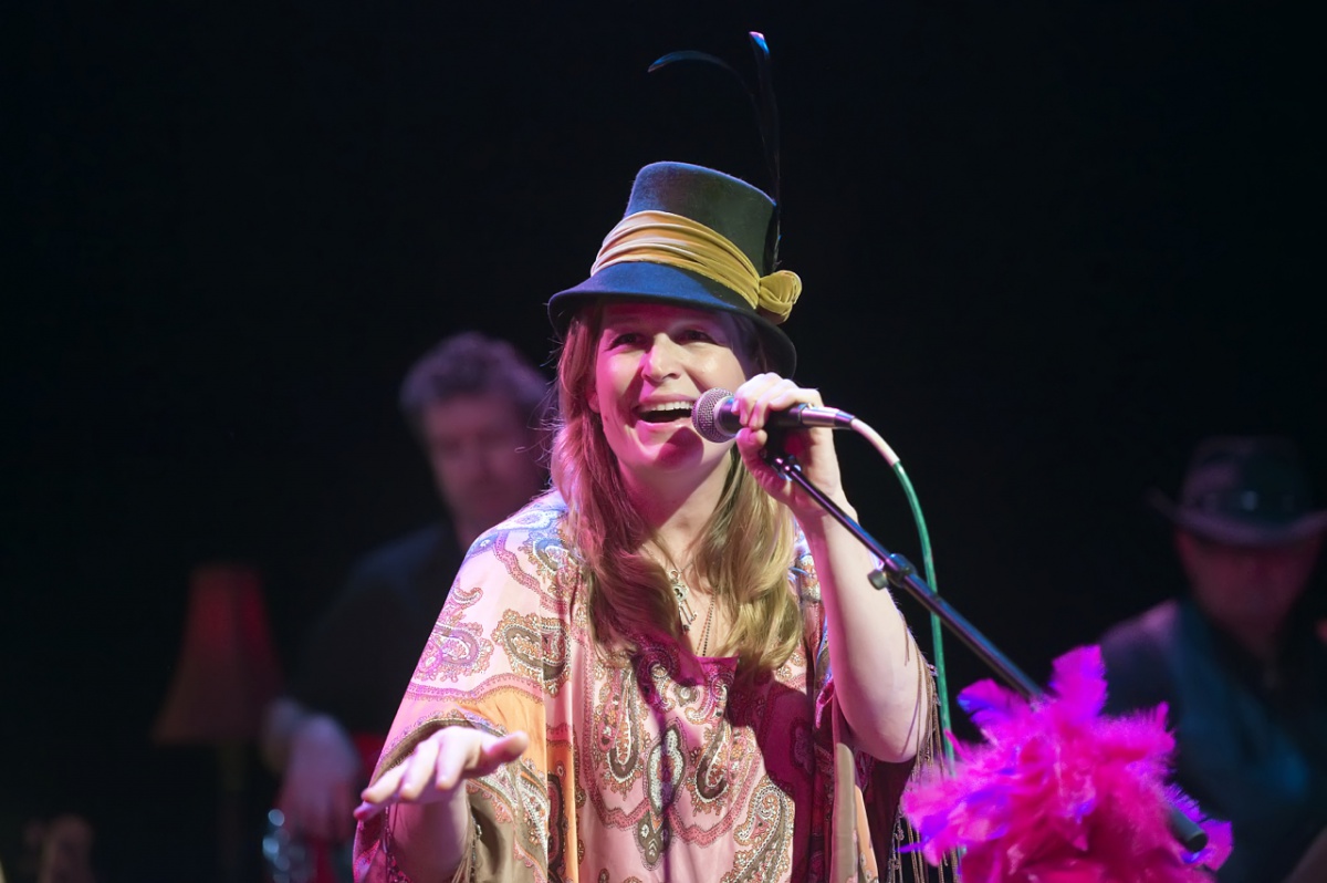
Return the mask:
{"type": "Polygon", "coordinates": [[[312,852],[309,879],[349,879],[350,813],[464,551],[544,486],[547,389],[511,344],[474,332],[443,340],[402,384],[443,517],[356,564],[263,726],[284,837],[312,852]]]}

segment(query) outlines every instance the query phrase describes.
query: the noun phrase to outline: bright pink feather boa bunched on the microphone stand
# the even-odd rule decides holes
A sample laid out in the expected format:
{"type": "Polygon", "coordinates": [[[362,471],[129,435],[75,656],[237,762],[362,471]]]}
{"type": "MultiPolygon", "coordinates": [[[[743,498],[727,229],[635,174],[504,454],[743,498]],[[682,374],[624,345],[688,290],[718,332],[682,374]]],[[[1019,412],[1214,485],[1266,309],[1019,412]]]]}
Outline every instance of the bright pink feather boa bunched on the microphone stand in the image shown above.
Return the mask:
{"type": "Polygon", "coordinates": [[[1100,648],[1055,660],[1050,694],[1031,704],[994,681],[958,702],[986,744],[955,741],[957,769],[924,775],[902,810],[928,862],[962,851],[963,883],[1198,883],[1230,854],[1230,825],[1165,785],[1165,705],[1101,716],[1100,648]],[[1201,852],[1170,834],[1168,801],[1208,833],[1201,852]]]}

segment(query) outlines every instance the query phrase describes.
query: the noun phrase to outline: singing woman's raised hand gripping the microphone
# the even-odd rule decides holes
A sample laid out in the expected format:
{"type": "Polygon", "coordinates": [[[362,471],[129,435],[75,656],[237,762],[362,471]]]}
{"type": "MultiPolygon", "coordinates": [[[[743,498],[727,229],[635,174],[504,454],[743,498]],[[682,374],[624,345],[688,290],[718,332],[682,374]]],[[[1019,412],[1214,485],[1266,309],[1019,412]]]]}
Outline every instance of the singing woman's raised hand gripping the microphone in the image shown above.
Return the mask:
{"type": "MultiPolygon", "coordinates": [[[[824,509],[816,501],[760,457],[760,451],[770,441],[770,432],[766,429],[770,414],[787,410],[794,405],[820,408],[824,405],[820,400],[820,392],[798,386],[779,374],[767,373],[756,374],[738,386],[733,398],[738,404],[742,418],[742,430],[738,432],[738,451],[742,454],[742,462],[760,482],[760,487],[770,497],[791,509],[798,521],[803,523],[825,515],[824,509]]],[[[829,499],[840,506],[847,506],[839,474],[839,457],[833,447],[833,430],[820,428],[776,432],[786,433],[783,447],[798,458],[803,475],[824,491],[829,499]]]]}

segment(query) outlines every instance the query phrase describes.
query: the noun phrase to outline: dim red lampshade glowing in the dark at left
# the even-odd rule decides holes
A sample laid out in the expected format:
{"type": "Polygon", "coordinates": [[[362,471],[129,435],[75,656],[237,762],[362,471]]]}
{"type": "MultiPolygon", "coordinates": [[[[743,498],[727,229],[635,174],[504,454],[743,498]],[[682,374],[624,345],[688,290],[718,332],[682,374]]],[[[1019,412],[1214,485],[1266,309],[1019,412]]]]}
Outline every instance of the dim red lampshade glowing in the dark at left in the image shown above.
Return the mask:
{"type": "Polygon", "coordinates": [[[166,704],[153,724],[153,741],[252,740],[280,682],[257,572],[230,563],[195,568],[184,643],[166,704]]]}

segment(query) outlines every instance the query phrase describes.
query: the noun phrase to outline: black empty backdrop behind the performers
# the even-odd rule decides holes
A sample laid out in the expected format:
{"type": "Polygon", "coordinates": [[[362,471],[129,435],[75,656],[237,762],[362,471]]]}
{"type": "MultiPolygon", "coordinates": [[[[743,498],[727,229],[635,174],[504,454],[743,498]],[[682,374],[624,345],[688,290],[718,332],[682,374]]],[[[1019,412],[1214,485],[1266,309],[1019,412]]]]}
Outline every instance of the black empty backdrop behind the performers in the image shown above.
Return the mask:
{"type": "MultiPolygon", "coordinates": [[[[394,409],[419,353],[478,328],[545,359],[541,304],[645,162],[768,187],[742,88],[646,74],[670,50],[750,77],[768,37],[798,378],[900,453],[940,588],[1035,679],[1176,591],[1141,497],[1198,437],[1294,434],[1320,478],[1307,9],[936,5],[9,7],[7,866],[80,809],[109,879],[212,876],[212,756],[147,740],[190,568],[260,567],[289,657],[435,510],[394,409]]],[[[840,451],[916,556],[897,481],[840,451]]],[[[985,676],[947,648],[954,689],[985,676]]]]}

